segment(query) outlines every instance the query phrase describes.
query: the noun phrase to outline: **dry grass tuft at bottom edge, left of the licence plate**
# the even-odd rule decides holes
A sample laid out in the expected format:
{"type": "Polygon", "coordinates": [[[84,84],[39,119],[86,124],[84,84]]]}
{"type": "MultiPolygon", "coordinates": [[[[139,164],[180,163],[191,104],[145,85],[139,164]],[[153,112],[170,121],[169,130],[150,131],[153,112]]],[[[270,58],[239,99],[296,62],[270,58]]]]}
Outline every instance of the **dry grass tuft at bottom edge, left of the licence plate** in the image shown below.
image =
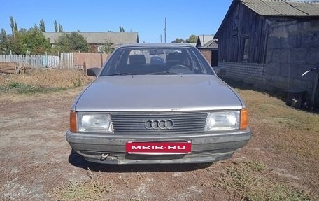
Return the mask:
{"type": "Polygon", "coordinates": [[[111,192],[112,186],[101,179],[101,173],[94,175],[87,170],[88,181],[69,182],[66,186],[54,190],[56,200],[104,200],[106,193],[111,192]]]}

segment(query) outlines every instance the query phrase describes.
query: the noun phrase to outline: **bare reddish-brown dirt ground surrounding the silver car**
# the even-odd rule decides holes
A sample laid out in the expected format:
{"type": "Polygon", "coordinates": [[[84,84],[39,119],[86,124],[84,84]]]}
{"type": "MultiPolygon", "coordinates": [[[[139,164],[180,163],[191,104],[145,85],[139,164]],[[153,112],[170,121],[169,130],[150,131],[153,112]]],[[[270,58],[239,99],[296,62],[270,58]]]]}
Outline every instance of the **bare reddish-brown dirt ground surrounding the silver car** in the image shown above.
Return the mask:
{"type": "MultiPolygon", "coordinates": [[[[296,133],[303,134],[302,140],[310,141],[310,147],[303,147],[304,152],[300,154],[292,147],[299,146],[296,139],[288,137],[288,146],[278,143],[283,139],[281,132],[291,134],[294,130],[281,125],[273,129],[268,126],[271,119],[257,120],[260,104],[246,99],[251,93],[265,99],[264,102],[272,97],[258,92],[240,92],[251,106],[250,124],[254,133],[248,146],[229,160],[215,162],[209,167],[117,166],[85,162],[71,153],[65,133],[69,127],[69,108],[79,92],[80,88],[76,88],[53,94],[0,96],[0,200],[82,200],[72,198],[71,194],[80,185],[86,192],[85,182],[90,181],[90,175],[95,178],[93,186],[103,184],[103,189],[96,190],[100,190],[96,193],[102,200],[254,200],[248,196],[253,192],[249,189],[259,189],[264,194],[251,195],[257,196],[255,200],[258,196],[268,196],[261,200],[276,200],[270,198],[278,192],[285,194],[285,200],[291,197],[319,200],[318,127],[296,133]],[[251,171],[246,172],[247,169],[251,171]],[[229,174],[232,171],[234,174],[229,174]],[[240,171],[245,172],[243,177],[247,179],[240,179],[237,174],[240,171]],[[236,181],[243,182],[243,186],[236,181]],[[283,190],[276,191],[277,188],[283,190]],[[269,194],[267,190],[271,189],[273,193],[269,194]]],[[[285,107],[283,102],[275,102],[285,107]]],[[[264,105],[260,109],[269,107],[264,105]]],[[[298,116],[304,112],[296,113],[298,116]]],[[[309,116],[318,118],[313,114],[309,116]]],[[[287,124],[282,121],[283,125],[287,124]]],[[[278,196],[277,200],[281,200],[281,195],[278,196]]]]}

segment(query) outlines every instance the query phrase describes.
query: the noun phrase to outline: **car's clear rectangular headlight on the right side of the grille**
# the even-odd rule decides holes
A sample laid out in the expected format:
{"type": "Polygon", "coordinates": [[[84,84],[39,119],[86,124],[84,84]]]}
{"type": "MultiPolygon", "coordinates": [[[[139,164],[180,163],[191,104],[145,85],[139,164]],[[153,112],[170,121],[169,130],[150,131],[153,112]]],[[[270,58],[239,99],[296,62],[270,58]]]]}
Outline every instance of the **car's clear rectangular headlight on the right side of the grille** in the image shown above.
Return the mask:
{"type": "Polygon", "coordinates": [[[239,129],[239,111],[208,113],[205,131],[239,129]]]}

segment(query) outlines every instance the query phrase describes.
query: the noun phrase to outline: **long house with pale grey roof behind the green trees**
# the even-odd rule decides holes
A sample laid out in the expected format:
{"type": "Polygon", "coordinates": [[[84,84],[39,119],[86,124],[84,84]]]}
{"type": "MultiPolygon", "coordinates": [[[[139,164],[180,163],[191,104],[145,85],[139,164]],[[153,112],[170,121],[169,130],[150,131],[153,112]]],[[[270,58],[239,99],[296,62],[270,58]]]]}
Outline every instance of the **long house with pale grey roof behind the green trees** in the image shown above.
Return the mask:
{"type": "MultiPolygon", "coordinates": [[[[137,32],[78,32],[87,41],[92,53],[99,53],[101,46],[111,44],[117,48],[123,44],[139,43],[137,32]]],[[[55,44],[59,36],[69,34],[68,32],[43,32],[45,38],[50,39],[51,44],[55,44]]]]}

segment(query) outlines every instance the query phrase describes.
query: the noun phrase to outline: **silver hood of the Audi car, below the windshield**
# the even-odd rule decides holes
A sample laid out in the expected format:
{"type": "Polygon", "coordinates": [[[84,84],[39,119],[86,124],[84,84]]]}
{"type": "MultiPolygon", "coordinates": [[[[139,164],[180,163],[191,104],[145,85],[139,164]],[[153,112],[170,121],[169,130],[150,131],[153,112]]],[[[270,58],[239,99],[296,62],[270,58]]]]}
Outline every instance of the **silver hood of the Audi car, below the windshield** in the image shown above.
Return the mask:
{"type": "Polygon", "coordinates": [[[243,102],[214,75],[101,76],[78,97],[75,111],[208,111],[243,102]]]}

